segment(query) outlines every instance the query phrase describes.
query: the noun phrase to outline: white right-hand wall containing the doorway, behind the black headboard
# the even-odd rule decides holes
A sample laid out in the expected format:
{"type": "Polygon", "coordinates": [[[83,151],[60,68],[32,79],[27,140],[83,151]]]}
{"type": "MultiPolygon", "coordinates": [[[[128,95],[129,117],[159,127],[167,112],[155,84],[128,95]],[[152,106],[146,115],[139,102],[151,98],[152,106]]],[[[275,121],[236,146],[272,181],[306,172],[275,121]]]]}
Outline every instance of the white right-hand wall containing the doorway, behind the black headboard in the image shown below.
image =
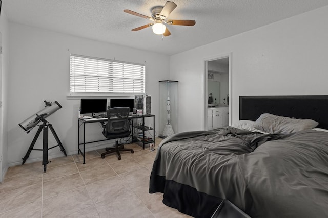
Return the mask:
{"type": "Polygon", "coordinates": [[[204,60],[228,53],[232,123],[242,95],[328,94],[327,26],[323,7],[171,56],[170,79],[179,81],[178,131],[204,129],[204,60]]]}

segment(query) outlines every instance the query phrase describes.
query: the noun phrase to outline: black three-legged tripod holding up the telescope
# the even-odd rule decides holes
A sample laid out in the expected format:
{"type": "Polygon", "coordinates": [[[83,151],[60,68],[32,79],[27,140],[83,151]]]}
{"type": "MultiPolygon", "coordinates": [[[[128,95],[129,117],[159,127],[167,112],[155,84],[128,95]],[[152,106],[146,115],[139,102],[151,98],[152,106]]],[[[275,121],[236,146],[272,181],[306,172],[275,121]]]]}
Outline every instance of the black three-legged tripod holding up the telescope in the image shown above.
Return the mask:
{"type": "Polygon", "coordinates": [[[47,120],[45,120],[43,118],[41,118],[40,120],[43,122],[43,124],[39,126],[39,129],[37,130],[37,132],[36,132],[36,134],[35,134],[35,136],[33,138],[33,141],[32,141],[32,143],[30,145],[29,150],[27,151],[27,153],[24,156],[24,158],[22,158],[23,159],[22,165],[25,163],[25,161],[27,160],[27,158],[29,158],[30,153],[31,153],[32,150],[43,151],[42,165],[43,165],[43,170],[46,173],[47,164],[49,163],[49,161],[48,161],[48,150],[49,149],[52,149],[52,148],[55,148],[55,147],[59,146],[60,151],[62,151],[65,154],[65,156],[67,156],[67,154],[66,154],[66,151],[64,149],[63,144],[61,144],[61,142],[60,142],[60,140],[59,140],[59,138],[58,138],[55,130],[52,127],[52,125],[47,120]],[[56,139],[56,141],[58,143],[56,146],[53,146],[51,148],[48,148],[48,129],[51,130],[54,138],[56,139]],[[40,133],[41,133],[42,130],[43,130],[43,149],[34,149],[33,148],[34,147],[34,144],[35,144],[35,142],[36,142],[37,138],[39,137],[39,135],[40,135],[40,133]]]}

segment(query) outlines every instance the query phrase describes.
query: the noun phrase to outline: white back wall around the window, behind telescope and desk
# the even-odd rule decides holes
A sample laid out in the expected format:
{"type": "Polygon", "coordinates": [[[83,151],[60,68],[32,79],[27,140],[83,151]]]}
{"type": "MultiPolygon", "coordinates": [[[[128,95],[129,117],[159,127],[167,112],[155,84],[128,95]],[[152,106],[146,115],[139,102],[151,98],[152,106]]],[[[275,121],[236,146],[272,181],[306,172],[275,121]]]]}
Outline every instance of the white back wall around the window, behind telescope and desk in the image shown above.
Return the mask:
{"type": "MultiPolygon", "coordinates": [[[[69,54],[146,62],[146,93],[152,96],[152,113],[158,114],[158,81],[168,79],[169,56],[131,49],[10,22],[10,75],[8,111],[8,162],[21,164],[37,128],[29,134],[18,127],[44,107],[44,100],[57,101],[63,108],[47,120],[53,125],[68,154],[77,153],[77,113],[79,99],[69,94],[69,54]]],[[[103,139],[98,124],[88,125],[90,137],[103,139]]],[[[155,119],[158,129],[158,117],[155,119]]],[[[87,135],[88,137],[89,135],[87,135]]],[[[56,142],[49,134],[49,147],[56,142]]],[[[104,144],[104,143],[103,143],[104,144]]],[[[91,145],[90,145],[91,146],[91,145]]],[[[92,147],[92,146],[91,146],[92,147]]],[[[102,146],[104,147],[104,146],[102,146]]],[[[42,136],[34,148],[42,148],[42,136]]],[[[90,147],[87,147],[87,150],[90,147]]],[[[62,156],[59,148],[49,157],[62,156]]],[[[27,162],[41,160],[42,152],[32,151],[27,162]]]]}

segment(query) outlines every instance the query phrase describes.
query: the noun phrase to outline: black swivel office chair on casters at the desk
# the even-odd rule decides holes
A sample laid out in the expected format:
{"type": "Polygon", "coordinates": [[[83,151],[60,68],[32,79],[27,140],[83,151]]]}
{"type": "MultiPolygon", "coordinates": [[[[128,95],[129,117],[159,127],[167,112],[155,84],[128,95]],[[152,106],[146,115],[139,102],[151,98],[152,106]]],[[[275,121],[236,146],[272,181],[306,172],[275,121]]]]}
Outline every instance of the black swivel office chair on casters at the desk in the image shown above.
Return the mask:
{"type": "Polygon", "coordinates": [[[118,143],[118,138],[130,136],[131,129],[129,123],[129,107],[115,107],[107,110],[107,124],[103,123],[103,135],[108,139],[116,139],[115,148],[105,148],[106,152],[101,154],[101,158],[105,155],[116,152],[118,160],[121,159],[120,151],[131,151],[133,149],[125,149],[123,144],[118,143]]]}

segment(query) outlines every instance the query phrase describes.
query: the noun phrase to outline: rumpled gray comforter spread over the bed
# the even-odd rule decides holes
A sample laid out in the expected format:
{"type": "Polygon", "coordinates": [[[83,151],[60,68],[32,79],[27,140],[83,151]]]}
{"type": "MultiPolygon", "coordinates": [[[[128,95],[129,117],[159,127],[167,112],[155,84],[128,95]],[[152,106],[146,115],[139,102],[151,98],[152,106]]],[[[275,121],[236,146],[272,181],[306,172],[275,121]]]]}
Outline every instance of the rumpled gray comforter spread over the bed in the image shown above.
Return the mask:
{"type": "Polygon", "coordinates": [[[158,148],[149,192],[163,192],[167,205],[201,217],[196,210],[204,202],[183,203],[190,199],[180,189],[228,199],[251,217],[328,217],[328,133],[229,127],[172,135],[158,148]]]}

